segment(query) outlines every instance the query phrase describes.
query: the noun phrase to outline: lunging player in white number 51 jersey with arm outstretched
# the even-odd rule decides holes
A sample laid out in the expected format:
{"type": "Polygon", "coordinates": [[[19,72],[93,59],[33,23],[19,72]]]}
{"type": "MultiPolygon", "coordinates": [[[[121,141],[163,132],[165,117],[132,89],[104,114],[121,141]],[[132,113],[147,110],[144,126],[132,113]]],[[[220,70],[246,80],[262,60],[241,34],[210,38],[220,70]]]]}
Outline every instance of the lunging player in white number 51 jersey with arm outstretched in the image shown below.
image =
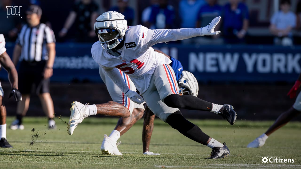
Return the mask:
{"type": "Polygon", "coordinates": [[[234,125],[236,112],[229,104],[214,104],[192,95],[178,94],[175,73],[171,62],[151,46],[167,41],[182,40],[195,36],[217,35],[214,32],[220,17],[209,25],[196,29],[147,29],[142,25],[127,26],[124,16],[109,11],[101,14],[94,25],[99,41],[91,48],[92,57],[108,77],[133,102],[147,103],[151,111],[181,134],[212,148],[209,158],[224,158],[230,154],[225,143],[203,133],[199,127],[185,119],[178,108],[203,110],[223,116],[234,125]],[[129,90],[120,71],[129,75],[135,87],[143,96],[129,90]]]}

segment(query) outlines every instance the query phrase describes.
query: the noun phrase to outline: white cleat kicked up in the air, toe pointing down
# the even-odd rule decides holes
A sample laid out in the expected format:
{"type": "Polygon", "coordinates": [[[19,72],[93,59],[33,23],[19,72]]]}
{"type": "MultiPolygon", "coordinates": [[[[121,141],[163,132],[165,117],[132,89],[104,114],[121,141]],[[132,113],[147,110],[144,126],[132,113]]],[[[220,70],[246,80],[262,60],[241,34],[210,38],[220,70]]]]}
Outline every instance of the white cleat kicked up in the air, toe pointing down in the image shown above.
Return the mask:
{"type": "Polygon", "coordinates": [[[67,132],[69,135],[72,135],[76,126],[81,123],[84,118],[88,117],[88,115],[85,114],[85,110],[88,109],[88,104],[89,103],[82,104],[79,102],[71,103],[71,115],[67,126],[67,132]]]}

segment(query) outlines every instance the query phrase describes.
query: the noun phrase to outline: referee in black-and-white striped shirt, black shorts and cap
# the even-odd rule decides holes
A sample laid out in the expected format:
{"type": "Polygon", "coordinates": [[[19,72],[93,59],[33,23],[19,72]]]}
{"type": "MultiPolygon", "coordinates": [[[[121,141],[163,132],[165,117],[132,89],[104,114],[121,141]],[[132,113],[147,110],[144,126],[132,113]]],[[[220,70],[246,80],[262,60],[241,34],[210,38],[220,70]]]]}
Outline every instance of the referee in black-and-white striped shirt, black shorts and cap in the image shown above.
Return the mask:
{"type": "Polygon", "coordinates": [[[40,23],[42,9],[31,5],[26,11],[27,24],[18,35],[13,53],[14,65],[21,60],[18,70],[19,90],[23,100],[17,105],[17,119],[12,122],[11,129],[24,129],[22,118],[29,107],[31,89],[34,87],[48,116],[48,127],[55,128],[54,106],[49,94],[49,82],[53,72],[55,57],[55,37],[53,31],[44,23],[40,23]]]}

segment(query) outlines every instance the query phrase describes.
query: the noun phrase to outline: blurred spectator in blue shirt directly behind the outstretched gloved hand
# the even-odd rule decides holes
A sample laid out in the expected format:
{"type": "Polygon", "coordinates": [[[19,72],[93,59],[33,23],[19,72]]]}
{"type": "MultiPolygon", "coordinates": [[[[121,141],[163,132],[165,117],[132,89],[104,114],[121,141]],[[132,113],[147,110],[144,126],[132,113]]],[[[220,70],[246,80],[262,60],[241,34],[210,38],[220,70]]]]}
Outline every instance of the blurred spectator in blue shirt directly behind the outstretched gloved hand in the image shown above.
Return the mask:
{"type": "MultiPolygon", "coordinates": [[[[197,14],[197,23],[196,27],[201,28],[205,27],[210,23],[215,17],[221,16],[222,7],[217,4],[217,0],[207,0],[207,3],[200,8],[200,11],[197,14]]],[[[216,25],[215,31],[218,31],[220,28],[220,23],[216,25]]],[[[199,44],[222,44],[223,40],[220,38],[220,34],[213,36],[204,36],[199,38],[199,44]]]]}

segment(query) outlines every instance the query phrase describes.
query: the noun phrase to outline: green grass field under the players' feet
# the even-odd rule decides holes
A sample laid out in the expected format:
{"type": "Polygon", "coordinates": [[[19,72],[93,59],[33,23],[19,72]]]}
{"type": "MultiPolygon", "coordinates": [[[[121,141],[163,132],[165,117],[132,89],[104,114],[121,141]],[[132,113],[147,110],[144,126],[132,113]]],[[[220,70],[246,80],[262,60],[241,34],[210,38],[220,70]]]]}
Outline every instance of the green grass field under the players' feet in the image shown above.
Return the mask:
{"type": "MultiPolygon", "coordinates": [[[[8,118],[7,124],[12,120],[8,118]]],[[[160,119],[155,120],[150,146],[160,156],[142,154],[142,120],[119,139],[122,156],[100,152],[103,135],[110,134],[117,118],[86,118],[72,136],[67,134],[67,124],[55,120],[57,130],[48,130],[47,119],[40,117],[26,117],[23,131],[7,129],[14,148],[0,149],[0,168],[301,168],[300,122],[290,122],[276,131],[262,148],[248,149],[247,144],[273,121],[237,121],[230,126],[224,120],[191,120],[209,136],[226,142],[231,151],[227,158],[208,160],[204,158],[210,148],[182,136],[160,119]],[[294,158],[295,162],[262,163],[262,157],[294,158]]]]}

